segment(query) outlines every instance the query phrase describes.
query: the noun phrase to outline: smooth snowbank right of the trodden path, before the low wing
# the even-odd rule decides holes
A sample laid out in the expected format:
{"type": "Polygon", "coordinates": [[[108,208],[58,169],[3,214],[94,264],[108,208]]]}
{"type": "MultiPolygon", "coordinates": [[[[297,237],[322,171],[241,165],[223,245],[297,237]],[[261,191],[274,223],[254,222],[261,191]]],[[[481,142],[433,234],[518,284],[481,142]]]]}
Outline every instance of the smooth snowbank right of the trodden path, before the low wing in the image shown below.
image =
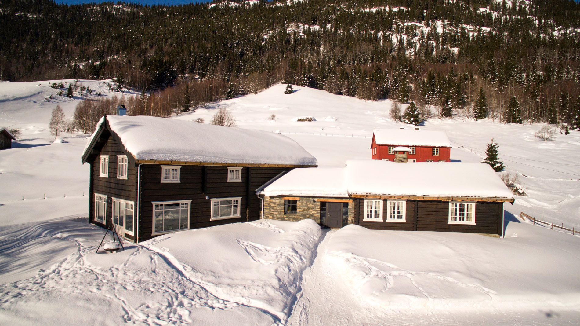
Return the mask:
{"type": "MultiPolygon", "coordinates": [[[[327,269],[361,302],[401,313],[580,309],[578,237],[510,222],[524,236],[375,231],[349,225],[327,269]]],[[[518,234],[520,234],[518,232],[518,234]]]]}

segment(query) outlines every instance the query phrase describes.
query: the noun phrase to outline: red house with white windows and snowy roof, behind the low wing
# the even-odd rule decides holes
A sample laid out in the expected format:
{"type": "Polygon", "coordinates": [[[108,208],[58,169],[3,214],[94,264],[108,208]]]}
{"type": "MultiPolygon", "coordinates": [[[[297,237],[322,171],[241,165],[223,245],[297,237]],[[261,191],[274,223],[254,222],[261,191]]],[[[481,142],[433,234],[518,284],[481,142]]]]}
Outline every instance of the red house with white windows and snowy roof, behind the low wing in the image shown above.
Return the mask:
{"type": "Polygon", "coordinates": [[[375,129],[372,134],[371,158],[394,161],[397,146],[409,148],[406,151],[407,162],[450,161],[451,142],[445,132],[413,129],[375,129]]]}

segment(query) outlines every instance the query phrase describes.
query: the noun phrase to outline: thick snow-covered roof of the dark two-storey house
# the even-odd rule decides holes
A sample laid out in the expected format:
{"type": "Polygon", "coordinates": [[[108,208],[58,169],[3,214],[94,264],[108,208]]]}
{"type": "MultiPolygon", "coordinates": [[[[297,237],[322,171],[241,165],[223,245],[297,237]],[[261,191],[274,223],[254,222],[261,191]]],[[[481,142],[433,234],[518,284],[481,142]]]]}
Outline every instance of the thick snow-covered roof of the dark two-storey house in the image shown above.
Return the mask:
{"type": "Polygon", "coordinates": [[[316,158],[302,146],[273,132],[128,115],[106,115],[97,131],[104,119],[136,160],[317,165],[316,158]]]}

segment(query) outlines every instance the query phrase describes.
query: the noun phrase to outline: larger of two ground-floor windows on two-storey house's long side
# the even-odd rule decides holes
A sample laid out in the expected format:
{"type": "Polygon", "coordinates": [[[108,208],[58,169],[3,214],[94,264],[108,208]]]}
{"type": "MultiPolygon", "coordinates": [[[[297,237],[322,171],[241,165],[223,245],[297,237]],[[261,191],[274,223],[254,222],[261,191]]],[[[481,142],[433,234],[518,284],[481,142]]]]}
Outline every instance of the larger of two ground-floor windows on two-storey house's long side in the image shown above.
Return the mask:
{"type": "Polygon", "coordinates": [[[189,229],[191,200],[154,201],[153,234],[189,229]]]}

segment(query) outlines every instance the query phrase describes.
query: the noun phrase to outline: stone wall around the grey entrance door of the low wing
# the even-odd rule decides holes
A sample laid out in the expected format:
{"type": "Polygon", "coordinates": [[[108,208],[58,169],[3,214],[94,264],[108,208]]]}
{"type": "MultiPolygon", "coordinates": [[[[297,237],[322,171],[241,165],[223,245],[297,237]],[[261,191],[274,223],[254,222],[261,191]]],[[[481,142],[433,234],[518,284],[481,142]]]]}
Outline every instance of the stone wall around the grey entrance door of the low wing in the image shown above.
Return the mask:
{"type": "MultiPolygon", "coordinates": [[[[328,201],[333,198],[323,197],[264,197],[264,219],[299,221],[312,219],[320,223],[320,201],[328,201]],[[296,213],[284,213],[284,200],[296,200],[296,213]],[[314,201],[313,201],[314,200],[314,201]]],[[[335,198],[336,199],[336,198],[335,198]]],[[[353,223],[354,202],[349,202],[348,224],[353,223]]]]}

